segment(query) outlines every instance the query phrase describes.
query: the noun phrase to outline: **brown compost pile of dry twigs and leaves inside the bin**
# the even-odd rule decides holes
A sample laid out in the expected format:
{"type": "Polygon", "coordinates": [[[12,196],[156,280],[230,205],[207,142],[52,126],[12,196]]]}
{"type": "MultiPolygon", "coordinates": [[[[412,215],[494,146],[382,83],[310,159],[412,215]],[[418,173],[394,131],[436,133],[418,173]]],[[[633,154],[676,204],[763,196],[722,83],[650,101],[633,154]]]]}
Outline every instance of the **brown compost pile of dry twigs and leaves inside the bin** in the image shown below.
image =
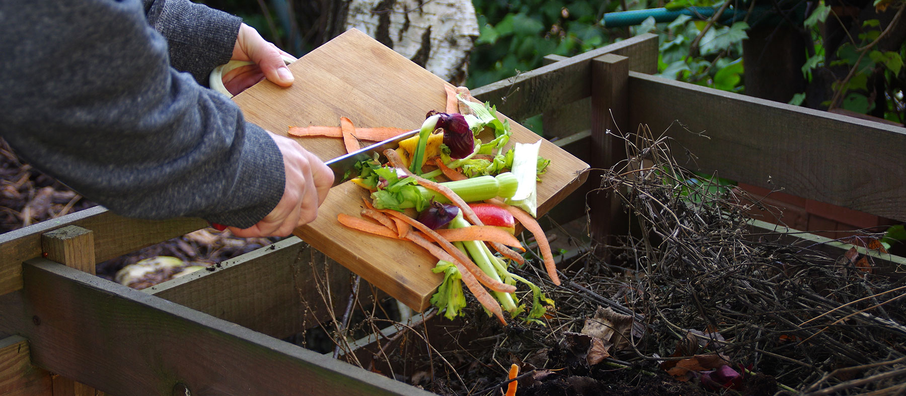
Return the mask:
{"type": "Polygon", "coordinates": [[[901,277],[854,249],[753,231],[745,213],[759,203],[681,169],[668,138],[625,140],[631,161],[601,187],[621,197],[629,235],[564,259],[561,287],[538,259],[515,271],[554,299],[545,325],[502,327],[470,301],[466,318],[403,331],[357,362],[442,395],[500,395],[512,363],[519,396],[906,391],[901,277]]]}

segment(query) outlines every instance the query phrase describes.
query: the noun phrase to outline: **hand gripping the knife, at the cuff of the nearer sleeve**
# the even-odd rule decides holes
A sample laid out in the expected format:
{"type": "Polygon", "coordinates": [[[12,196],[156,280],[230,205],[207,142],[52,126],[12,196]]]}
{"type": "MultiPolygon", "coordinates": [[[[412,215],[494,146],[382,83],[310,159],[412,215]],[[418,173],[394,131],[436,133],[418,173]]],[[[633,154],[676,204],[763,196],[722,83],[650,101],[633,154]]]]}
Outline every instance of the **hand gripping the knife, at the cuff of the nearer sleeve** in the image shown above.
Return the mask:
{"type": "Polygon", "coordinates": [[[284,157],[284,194],[260,222],[246,229],[229,227],[237,237],[284,237],[296,227],[313,222],[333,184],[333,172],[317,156],[289,137],[270,135],[284,157]]]}

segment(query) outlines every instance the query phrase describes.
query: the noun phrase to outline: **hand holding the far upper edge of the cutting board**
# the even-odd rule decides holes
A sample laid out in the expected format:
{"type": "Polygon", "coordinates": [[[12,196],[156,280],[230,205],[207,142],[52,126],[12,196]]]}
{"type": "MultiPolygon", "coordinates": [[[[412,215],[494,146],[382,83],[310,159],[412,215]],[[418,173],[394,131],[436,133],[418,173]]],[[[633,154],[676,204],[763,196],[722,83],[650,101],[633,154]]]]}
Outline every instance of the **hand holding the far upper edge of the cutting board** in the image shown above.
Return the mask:
{"type": "Polygon", "coordinates": [[[254,27],[241,24],[239,34],[236,35],[236,45],[233,47],[233,57],[230,60],[253,61],[255,64],[227,71],[222,77],[226,90],[236,95],[265,78],[282,87],[293,85],[293,73],[286,67],[284,55],[294,58],[289,53],[280,51],[273,43],[267,42],[254,27]]]}

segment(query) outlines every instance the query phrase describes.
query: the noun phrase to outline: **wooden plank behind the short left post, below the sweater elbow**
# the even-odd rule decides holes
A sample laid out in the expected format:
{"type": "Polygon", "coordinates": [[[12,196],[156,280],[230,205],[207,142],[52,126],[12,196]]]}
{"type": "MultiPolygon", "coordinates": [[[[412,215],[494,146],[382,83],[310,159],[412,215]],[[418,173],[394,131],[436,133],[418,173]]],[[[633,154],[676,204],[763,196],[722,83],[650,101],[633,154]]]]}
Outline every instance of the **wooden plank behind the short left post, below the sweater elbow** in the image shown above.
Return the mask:
{"type": "Polygon", "coordinates": [[[94,256],[100,262],[196,231],[207,222],[196,218],[129,219],[96,206],[0,234],[0,295],[22,288],[22,262],[41,256],[41,234],[66,225],[94,231],[94,256]]]}

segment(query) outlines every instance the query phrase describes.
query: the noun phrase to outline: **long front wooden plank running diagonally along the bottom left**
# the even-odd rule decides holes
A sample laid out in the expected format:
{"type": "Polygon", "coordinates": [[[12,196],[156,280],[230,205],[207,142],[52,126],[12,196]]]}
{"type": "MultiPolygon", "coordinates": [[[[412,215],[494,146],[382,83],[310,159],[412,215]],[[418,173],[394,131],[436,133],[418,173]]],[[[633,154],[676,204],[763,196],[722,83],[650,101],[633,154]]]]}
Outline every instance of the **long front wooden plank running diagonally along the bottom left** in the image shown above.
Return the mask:
{"type": "Polygon", "coordinates": [[[111,394],[430,394],[46,259],[23,272],[32,362],[111,394]]]}

